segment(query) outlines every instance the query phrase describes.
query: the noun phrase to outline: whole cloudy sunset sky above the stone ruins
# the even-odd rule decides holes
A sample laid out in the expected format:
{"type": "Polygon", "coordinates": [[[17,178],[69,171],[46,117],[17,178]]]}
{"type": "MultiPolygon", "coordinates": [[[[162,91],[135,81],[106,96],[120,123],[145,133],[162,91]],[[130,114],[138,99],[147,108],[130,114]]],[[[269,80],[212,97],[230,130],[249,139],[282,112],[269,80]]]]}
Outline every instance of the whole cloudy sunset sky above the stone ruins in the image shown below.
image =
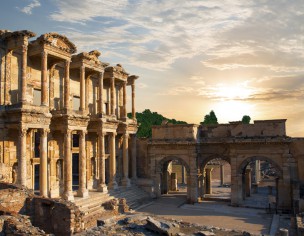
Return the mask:
{"type": "MultiPolygon", "coordinates": [[[[198,124],[287,119],[304,136],[302,0],[4,0],[0,29],[58,32],[136,82],[136,109],[198,124]]],[[[130,97],[130,96],[129,96],[130,97]]],[[[130,98],[128,99],[130,100],[130,98]]]]}

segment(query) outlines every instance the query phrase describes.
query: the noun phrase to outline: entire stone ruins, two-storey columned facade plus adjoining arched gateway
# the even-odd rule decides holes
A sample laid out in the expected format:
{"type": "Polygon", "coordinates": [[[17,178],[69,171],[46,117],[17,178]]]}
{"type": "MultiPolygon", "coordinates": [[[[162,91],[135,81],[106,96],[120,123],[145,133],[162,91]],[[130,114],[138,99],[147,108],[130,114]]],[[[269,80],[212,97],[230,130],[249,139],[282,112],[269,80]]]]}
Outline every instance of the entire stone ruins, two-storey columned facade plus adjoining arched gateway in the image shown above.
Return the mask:
{"type": "Polygon", "coordinates": [[[63,35],[34,37],[0,31],[1,181],[71,201],[133,183],[160,197],[177,189],[169,185],[178,182],[178,163],[194,203],[212,192],[217,165],[209,161],[222,159],[231,167],[231,205],[242,206],[259,187],[261,168],[271,167],[264,187],[276,207],[304,210],[304,139],[286,135],[286,120],[165,124],[138,140],[138,76],[101,62],[96,50],[77,54],[63,35]]]}

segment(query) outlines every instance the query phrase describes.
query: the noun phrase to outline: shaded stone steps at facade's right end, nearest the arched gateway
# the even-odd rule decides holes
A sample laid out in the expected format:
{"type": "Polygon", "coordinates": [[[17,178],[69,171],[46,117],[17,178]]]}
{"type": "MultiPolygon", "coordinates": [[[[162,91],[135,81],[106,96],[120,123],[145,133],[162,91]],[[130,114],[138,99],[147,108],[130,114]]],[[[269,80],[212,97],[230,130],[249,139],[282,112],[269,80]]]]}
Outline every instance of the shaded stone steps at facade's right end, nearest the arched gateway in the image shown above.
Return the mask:
{"type": "Polygon", "coordinates": [[[150,195],[139,187],[132,185],[130,187],[119,187],[110,190],[109,195],[114,198],[125,198],[130,209],[136,210],[141,205],[150,202],[150,195]]]}

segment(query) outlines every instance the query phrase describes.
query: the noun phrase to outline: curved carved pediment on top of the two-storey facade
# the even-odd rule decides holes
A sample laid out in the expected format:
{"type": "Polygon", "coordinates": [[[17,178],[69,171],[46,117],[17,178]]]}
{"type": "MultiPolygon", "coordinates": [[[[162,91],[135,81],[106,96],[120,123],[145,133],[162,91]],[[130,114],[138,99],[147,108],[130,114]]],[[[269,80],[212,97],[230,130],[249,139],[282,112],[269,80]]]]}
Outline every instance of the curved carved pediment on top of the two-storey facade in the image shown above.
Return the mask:
{"type": "Polygon", "coordinates": [[[71,54],[77,51],[76,46],[67,37],[58,33],[43,34],[37,38],[37,42],[48,44],[71,54]]]}

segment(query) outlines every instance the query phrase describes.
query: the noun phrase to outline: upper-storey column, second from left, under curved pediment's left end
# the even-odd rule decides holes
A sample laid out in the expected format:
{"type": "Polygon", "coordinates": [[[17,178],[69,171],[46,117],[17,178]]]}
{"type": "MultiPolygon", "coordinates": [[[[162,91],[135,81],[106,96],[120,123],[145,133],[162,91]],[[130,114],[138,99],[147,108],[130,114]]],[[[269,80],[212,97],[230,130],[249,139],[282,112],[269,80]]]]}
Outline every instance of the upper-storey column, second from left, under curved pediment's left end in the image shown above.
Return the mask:
{"type": "Polygon", "coordinates": [[[47,76],[47,56],[48,53],[41,53],[41,106],[48,106],[48,76],[47,76]]]}

